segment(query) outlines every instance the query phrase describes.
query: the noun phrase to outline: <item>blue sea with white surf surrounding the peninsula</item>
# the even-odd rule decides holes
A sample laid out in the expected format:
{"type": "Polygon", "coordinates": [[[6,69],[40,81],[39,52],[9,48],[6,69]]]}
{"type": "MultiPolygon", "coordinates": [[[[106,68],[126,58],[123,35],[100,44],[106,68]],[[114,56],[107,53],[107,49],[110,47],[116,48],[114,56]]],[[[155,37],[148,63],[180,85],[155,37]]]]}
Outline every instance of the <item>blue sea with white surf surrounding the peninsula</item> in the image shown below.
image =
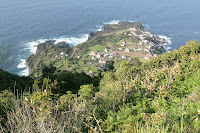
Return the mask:
{"type": "Polygon", "coordinates": [[[199,0],[0,0],[0,41],[14,47],[8,71],[26,75],[24,60],[46,39],[77,45],[107,23],[142,22],[178,49],[200,40],[199,0]]]}

